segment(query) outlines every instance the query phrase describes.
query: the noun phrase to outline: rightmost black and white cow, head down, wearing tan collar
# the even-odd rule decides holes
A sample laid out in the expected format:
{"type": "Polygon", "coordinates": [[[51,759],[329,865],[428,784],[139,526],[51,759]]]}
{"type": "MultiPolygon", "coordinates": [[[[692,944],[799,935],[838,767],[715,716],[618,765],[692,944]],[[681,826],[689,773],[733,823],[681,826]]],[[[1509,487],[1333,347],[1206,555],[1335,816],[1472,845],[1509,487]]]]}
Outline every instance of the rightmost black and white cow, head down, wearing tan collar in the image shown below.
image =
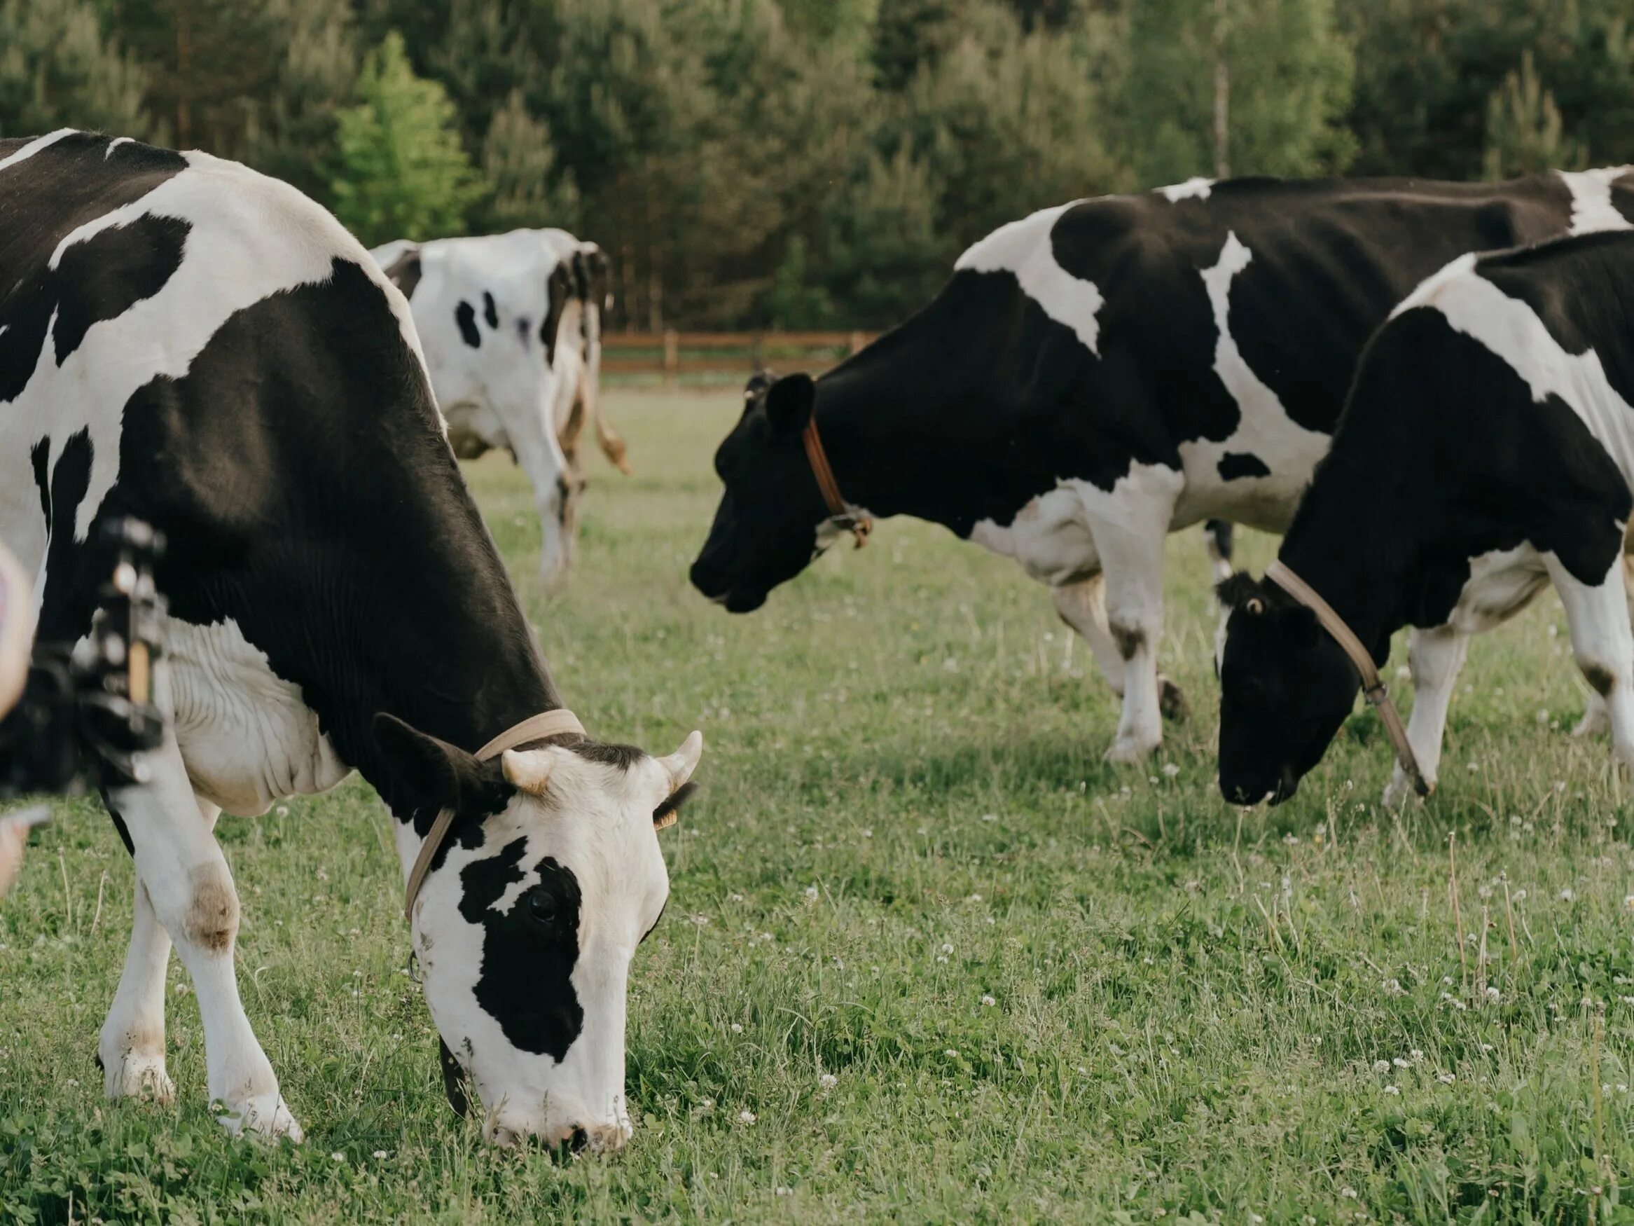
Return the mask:
{"type": "MultiPolygon", "coordinates": [[[[1407,736],[1428,781],[1469,636],[1546,584],[1634,767],[1631,482],[1634,232],[1462,257],[1368,345],[1279,559],[1379,664],[1392,631],[1425,628],[1407,736]]],[[[1284,799],[1350,713],[1356,669],[1275,582],[1235,575],[1221,597],[1221,791],[1284,799]]],[[[1387,799],[1405,793],[1397,767],[1387,799]]]]}

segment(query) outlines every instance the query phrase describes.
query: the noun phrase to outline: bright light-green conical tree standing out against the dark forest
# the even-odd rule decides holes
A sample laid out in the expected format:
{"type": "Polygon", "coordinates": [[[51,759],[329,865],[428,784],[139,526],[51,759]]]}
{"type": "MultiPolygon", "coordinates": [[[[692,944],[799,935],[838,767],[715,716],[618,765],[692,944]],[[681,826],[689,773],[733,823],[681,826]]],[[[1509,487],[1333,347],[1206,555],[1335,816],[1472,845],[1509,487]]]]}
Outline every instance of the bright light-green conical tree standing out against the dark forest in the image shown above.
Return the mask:
{"type": "Polygon", "coordinates": [[[358,100],[338,116],[335,216],[368,245],[464,230],[480,186],[448,93],[415,77],[402,36],[364,57],[358,100]]]}

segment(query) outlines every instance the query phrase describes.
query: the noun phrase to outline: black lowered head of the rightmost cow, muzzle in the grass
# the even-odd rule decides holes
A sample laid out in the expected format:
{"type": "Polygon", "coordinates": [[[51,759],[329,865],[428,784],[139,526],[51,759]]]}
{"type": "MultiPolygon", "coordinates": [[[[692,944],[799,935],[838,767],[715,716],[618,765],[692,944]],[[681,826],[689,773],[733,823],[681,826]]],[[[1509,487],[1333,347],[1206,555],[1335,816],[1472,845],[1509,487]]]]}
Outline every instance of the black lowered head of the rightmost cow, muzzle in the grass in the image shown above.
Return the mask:
{"type": "Polygon", "coordinates": [[[1221,639],[1221,793],[1286,801],[1322,760],[1361,682],[1345,651],[1276,584],[1226,579],[1221,639]]]}

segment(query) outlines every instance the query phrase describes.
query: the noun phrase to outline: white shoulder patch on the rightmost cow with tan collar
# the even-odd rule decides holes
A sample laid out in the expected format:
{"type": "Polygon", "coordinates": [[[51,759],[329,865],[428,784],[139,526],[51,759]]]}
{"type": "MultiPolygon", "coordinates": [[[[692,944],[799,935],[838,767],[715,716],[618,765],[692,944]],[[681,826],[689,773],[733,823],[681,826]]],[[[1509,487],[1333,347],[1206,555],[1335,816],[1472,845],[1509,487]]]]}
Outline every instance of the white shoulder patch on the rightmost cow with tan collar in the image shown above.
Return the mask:
{"type": "Polygon", "coordinates": [[[1634,405],[1624,400],[1590,348],[1567,353],[1538,312],[1476,271],[1462,255],[1420,284],[1392,314],[1440,311],[1449,327],[1480,342],[1508,365],[1542,404],[1559,396],[1634,484],[1634,405]]]}

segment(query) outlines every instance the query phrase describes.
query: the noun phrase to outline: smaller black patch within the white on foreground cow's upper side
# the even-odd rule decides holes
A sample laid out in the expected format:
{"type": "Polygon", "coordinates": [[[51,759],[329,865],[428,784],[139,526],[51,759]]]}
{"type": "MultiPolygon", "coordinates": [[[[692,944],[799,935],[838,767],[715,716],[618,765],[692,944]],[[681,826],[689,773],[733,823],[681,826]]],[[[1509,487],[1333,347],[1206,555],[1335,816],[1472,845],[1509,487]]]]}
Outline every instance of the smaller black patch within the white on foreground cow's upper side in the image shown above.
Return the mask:
{"type": "Polygon", "coordinates": [[[52,329],[59,366],[80,347],[92,324],[118,319],[165,288],[181,266],[191,229],[181,217],[147,214],[109,226],[64,252],[56,271],[60,291],[52,329]]]}

